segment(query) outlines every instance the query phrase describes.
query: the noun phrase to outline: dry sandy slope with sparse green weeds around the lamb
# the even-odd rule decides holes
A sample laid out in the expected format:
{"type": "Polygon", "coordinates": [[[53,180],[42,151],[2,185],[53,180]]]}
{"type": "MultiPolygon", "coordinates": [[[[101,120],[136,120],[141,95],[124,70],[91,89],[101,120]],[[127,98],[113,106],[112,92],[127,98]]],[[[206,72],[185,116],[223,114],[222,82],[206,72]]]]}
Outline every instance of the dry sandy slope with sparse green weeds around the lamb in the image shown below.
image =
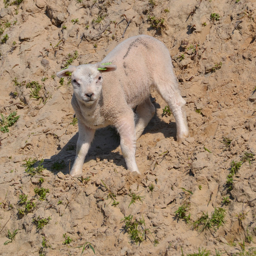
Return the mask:
{"type": "Polygon", "coordinates": [[[256,3],[149,2],[0,2],[0,110],[20,116],[0,133],[0,255],[255,255],[256,3]],[[175,120],[152,91],[156,115],[137,141],[142,174],[126,170],[107,127],[96,132],[83,177],[71,178],[72,86],[55,74],[139,34],[170,51],[190,137],[177,143],[175,120]],[[36,169],[24,166],[34,159],[36,169]],[[129,214],[137,236],[125,228],[129,214]]]}

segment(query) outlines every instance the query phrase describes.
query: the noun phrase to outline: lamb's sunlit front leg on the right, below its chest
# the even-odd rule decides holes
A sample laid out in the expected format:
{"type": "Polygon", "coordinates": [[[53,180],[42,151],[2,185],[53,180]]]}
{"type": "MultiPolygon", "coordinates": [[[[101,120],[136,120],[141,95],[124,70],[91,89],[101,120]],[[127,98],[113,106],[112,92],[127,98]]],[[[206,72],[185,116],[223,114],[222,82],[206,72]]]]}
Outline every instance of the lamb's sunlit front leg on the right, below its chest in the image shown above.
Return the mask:
{"type": "Polygon", "coordinates": [[[120,135],[120,146],[127,169],[131,172],[140,173],[135,161],[136,134],[132,109],[129,109],[129,111],[125,113],[125,116],[119,118],[116,123],[116,129],[120,135]]]}

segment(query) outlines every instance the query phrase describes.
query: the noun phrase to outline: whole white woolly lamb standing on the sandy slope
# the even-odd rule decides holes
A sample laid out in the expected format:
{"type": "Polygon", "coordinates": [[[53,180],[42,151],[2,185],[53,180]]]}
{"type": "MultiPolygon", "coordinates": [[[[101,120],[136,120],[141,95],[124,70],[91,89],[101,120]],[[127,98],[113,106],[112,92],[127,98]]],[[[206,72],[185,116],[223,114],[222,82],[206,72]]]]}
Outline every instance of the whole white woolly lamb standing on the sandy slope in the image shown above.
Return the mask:
{"type": "Polygon", "coordinates": [[[82,174],[95,130],[108,125],[120,135],[127,169],[140,173],[135,161],[136,140],[155,114],[149,98],[151,87],[172,110],[177,140],[188,137],[186,102],[178,89],[170,53],[158,39],[146,35],[130,37],[101,62],[69,66],[57,73],[58,77],[70,75],[74,89],[71,104],[79,133],[71,176],[82,174]]]}

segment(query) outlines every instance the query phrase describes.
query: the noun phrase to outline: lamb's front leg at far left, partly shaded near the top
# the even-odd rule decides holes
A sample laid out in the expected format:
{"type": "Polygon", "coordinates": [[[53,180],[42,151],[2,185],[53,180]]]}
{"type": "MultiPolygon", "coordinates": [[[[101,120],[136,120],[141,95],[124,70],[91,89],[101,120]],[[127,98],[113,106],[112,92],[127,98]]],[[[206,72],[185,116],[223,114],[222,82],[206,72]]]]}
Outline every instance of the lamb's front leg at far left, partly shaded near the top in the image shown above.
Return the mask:
{"type": "Polygon", "coordinates": [[[85,126],[78,120],[78,133],[79,135],[76,143],[76,157],[70,171],[70,175],[73,177],[80,176],[83,172],[84,158],[90,148],[95,130],[85,126]]]}

